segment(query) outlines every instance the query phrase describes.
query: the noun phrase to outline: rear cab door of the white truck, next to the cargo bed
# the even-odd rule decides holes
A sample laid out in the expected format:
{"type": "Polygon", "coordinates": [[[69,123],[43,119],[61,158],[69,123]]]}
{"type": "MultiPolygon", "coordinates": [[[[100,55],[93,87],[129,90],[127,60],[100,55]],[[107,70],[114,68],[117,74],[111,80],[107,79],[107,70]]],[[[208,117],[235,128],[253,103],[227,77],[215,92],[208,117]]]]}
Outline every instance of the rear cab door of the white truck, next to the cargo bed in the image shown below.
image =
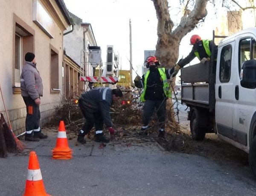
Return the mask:
{"type": "Polygon", "coordinates": [[[235,42],[218,48],[215,85],[215,121],[218,134],[232,138],[232,114],[235,96],[233,95],[233,54],[235,42]]]}

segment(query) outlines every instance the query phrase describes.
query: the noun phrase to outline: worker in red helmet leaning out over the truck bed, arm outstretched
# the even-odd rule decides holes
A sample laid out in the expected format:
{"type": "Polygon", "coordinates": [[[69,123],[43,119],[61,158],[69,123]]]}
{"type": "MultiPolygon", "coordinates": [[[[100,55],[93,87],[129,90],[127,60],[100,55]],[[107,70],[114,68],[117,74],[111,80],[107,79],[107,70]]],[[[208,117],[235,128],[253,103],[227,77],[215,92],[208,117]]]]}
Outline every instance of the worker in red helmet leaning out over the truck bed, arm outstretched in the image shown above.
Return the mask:
{"type": "Polygon", "coordinates": [[[180,59],[175,65],[175,74],[177,74],[180,68],[190,63],[195,57],[197,57],[201,63],[209,61],[212,56],[212,49],[215,57],[217,57],[217,46],[212,40],[202,40],[199,35],[192,35],[190,38],[190,45],[193,45],[192,51],[186,58],[180,59]]]}

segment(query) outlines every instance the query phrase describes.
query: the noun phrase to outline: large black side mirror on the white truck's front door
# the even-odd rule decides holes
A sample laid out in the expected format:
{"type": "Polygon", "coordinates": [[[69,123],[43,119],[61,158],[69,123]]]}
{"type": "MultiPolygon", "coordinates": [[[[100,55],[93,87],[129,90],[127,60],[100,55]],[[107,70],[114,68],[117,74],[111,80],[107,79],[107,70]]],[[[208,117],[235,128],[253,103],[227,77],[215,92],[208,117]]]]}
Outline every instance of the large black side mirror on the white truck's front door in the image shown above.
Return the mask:
{"type": "Polygon", "coordinates": [[[242,70],[243,78],[241,86],[247,89],[256,88],[256,60],[244,61],[242,70]]]}

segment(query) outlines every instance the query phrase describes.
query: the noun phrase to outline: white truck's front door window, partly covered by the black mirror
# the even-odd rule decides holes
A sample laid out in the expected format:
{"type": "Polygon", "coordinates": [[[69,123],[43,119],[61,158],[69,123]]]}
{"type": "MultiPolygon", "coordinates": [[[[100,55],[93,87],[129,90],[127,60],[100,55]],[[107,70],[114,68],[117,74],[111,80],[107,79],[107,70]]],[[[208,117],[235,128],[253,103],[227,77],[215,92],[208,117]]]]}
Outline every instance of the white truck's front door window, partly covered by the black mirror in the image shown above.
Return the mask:
{"type": "Polygon", "coordinates": [[[256,60],[256,41],[253,38],[246,38],[239,43],[239,75],[242,78],[242,66],[244,61],[256,60]]]}

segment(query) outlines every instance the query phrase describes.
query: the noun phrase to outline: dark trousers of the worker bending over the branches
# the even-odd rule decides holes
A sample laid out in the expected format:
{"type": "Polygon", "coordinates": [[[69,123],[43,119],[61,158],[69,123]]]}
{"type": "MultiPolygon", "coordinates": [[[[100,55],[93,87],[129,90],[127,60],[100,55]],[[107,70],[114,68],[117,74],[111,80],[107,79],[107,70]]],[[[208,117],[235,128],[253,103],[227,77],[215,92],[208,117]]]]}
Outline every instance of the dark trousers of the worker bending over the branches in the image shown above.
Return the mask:
{"type": "Polygon", "coordinates": [[[84,118],[86,119],[84,126],[82,127],[84,133],[80,133],[81,135],[86,135],[89,133],[93,126],[95,126],[96,131],[103,130],[103,118],[101,113],[88,112],[86,107],[83,106],[83,101],[81,100],[79,100],[79,107],[84,115],[84,118]]]}

